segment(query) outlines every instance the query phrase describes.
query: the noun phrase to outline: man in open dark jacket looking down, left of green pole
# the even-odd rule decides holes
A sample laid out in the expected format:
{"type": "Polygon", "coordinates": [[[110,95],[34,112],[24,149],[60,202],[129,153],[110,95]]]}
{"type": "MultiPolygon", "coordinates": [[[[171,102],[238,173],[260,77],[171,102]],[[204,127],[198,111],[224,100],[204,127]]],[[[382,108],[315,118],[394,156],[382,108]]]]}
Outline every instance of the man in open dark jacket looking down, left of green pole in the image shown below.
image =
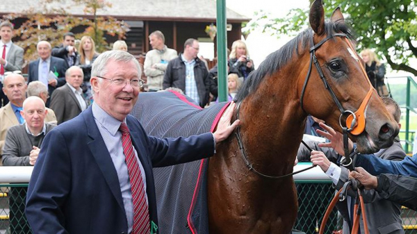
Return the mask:
{"type": "Polygon", "coordinates": [[[184,51],[178,58],[170,60],[163,77],[163,89],[178,87],[199,106],[208,103],[209,93],[218,94],[217,85],[208,76],[206,65],[197,57],[199,42],[193,38],[186,40],[184,51]]]}

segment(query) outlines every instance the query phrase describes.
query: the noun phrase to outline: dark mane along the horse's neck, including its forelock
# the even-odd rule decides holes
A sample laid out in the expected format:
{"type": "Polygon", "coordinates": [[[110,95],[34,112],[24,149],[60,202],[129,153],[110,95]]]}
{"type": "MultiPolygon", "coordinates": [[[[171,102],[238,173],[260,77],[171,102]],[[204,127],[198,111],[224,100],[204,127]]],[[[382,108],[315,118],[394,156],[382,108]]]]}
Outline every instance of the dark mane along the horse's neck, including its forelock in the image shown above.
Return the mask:
{"type": "MultiPolygon", "coordinates": [[[[326,22],[325,31],[328,37],[333,37],[335,33],[344,33],[347,35],[349,40],[354,41],[354,32],[352,28],[343,21],[326,22]]],[[[287,42],[283,47],[273,53],[270,53],[270,55],[268,55],[265,60],[261,62],[258,69],[254,70],[249,76],[247,76],[245,83],[243,83],[242,87],[240,87],[234,101],[236,103],[243,101],[247,95],[254,92],[263,81],[263,78],[274,74],[279,70],[279,68],[286,65],[286,63],[293,58],[294,51],[296,51],[297,56],[300,56],[300,51],[304,51],[304,49],[311,47],[312,37],[313,30],[311,28],[307,28],[292,40],[287,42]],[[299,50],[299,46],[301,46],[301,50],[299,50]]]]}

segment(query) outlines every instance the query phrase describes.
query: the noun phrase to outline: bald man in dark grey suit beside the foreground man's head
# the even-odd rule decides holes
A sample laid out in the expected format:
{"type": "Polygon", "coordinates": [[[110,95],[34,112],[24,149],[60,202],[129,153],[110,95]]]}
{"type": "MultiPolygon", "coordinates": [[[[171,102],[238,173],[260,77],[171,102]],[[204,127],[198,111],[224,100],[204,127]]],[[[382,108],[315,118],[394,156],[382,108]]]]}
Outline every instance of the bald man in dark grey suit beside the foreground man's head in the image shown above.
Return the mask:
{"type": "Polygon", "coordinates": [[[83,69],[72,66],[65,72],[67,83],[58,87],[51,98],[51,109],[54,110],[58,124],[70,120],[87,109],[88,104],[83,98],[83,69]]]}

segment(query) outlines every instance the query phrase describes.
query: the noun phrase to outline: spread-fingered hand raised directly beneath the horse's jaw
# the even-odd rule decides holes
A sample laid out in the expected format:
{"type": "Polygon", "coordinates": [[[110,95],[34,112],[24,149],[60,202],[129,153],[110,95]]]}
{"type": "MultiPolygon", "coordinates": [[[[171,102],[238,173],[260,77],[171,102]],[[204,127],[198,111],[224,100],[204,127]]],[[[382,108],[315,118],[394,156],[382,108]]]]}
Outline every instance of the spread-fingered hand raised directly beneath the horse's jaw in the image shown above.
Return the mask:
{"type": "MultiPolygon", "coordinates": [[[[326,137],[330,142],[320,143],[318,144],[319,147],[327,147],[327,148],[333,148],[338,154],[345,156],[345,151],[343,150],[343,135],[342,133],[338,133],[334,131],[334,129],[331,126],[328,126],[327,124],[320,123],[319,126],[325,131],[321,131],[320,129],[317,129],[317,133],[321,135],[322,137],[326,137]]],[[[349,152],[353,149],[353,142],[349,139],[349,152]]]]}

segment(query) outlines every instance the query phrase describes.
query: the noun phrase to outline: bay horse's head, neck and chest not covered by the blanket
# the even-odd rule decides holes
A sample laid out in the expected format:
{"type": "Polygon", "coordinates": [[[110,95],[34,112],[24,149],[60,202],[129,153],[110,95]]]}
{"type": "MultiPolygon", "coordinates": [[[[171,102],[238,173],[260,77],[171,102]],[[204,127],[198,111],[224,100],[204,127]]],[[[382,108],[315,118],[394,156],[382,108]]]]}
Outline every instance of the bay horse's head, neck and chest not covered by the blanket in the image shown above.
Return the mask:
{"type": "Polygon", "coordinates": [[[354,49],[339,8],[325,21],[311,5],[311,28],[271,53],[236,95],[237,137],[208,164],[213,233],[289,233],[297,217],[291,176],[307,115],[348,128],[361,153],[393,144],[398,124],[386,110],[354,49]],[[284,177],[283,177],[284,176],[284,177]]]}

